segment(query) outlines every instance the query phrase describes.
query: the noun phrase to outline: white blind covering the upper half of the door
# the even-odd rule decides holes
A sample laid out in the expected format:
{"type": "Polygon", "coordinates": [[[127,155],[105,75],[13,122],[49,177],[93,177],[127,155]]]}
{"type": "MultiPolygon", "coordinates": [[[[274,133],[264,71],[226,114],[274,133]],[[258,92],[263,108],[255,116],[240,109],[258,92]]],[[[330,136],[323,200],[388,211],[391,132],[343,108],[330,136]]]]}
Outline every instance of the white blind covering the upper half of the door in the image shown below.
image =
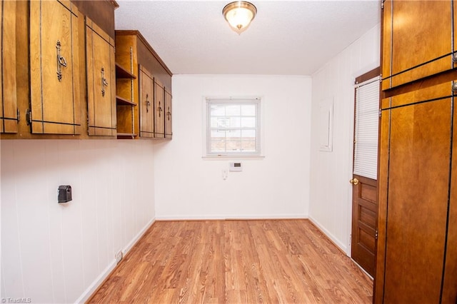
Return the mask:
{"type": "Polygon", "coordinates": [[[356,86],[353,173],[378,178],[379,77],[356,86]]]}

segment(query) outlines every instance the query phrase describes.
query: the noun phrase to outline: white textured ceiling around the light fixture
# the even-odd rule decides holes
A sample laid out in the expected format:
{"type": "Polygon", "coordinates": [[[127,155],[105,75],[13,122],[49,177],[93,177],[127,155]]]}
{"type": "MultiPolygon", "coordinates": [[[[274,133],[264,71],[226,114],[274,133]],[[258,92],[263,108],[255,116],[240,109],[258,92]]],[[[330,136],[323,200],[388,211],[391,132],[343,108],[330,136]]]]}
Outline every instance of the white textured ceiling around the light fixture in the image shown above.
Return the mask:
{"type": "Polygon", "coordinates": [[[251,0],[236,34],[227,1],[118,0],[116,29],[137,29],[173,74],[311,75],[380,21],[380,2],[251,0]]]}

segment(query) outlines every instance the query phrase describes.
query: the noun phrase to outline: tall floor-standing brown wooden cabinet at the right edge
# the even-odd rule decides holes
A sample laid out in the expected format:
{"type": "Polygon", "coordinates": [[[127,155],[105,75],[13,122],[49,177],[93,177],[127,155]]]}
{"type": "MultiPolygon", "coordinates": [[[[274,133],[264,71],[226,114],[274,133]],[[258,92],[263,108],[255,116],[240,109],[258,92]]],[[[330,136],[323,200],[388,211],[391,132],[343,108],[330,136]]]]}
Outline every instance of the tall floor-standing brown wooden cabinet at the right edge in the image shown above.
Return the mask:
{"type": "Polygon", "coordinates": [[[383,4],[375,303],[457,303],[453,5],[383,4]]]}

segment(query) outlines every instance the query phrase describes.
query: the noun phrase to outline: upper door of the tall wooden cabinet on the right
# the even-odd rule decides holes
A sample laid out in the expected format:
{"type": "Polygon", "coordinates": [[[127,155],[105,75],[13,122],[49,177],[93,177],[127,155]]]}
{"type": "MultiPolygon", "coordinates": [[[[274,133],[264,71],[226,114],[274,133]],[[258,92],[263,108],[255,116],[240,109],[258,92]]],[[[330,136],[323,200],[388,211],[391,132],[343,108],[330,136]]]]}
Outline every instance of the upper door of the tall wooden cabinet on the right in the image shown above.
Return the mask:
{"type": "Polygon", "coordinates": [[[452,5],[451,0],[384,3],[383,90],[456,66],[452,5]]]}

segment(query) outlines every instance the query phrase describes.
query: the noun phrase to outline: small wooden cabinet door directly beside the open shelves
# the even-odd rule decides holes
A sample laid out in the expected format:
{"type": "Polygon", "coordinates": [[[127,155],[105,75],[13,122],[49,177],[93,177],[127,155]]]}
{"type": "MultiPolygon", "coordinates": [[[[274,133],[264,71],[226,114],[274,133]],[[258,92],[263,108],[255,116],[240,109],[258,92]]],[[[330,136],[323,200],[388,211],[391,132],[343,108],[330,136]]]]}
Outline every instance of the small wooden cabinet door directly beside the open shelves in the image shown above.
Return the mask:
{"type": "Polygon", "coordinates": [[[140,136],[154,137],[154,79],[151,73],[140,66],[140,136]]]}

